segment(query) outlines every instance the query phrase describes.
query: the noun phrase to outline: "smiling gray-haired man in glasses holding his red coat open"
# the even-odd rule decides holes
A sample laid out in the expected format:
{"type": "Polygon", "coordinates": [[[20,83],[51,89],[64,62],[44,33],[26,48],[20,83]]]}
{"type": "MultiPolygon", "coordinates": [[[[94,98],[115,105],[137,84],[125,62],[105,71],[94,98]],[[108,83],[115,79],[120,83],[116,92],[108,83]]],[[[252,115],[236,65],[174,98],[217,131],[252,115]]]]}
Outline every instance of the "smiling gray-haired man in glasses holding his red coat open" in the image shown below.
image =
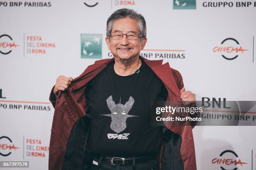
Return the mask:
{"type": "Polygon", "coordinates": [[[74,80],[59,76],[51,91],[49,170],[196,170],[192,127],[150,124],[151,101],[195,98],[168,63],[139,56],[145,19],[117,10],[106,35],[114,57],[74,80]]]}

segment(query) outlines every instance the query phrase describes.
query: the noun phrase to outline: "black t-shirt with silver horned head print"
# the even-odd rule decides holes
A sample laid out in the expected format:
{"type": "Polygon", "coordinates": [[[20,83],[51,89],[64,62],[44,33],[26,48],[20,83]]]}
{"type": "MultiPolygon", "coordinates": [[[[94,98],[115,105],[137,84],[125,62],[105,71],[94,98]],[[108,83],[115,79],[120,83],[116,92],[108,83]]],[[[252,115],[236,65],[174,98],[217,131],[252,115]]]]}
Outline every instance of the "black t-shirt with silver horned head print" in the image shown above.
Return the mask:
{"type": "Polygon", "coordinates": [[[132,156],[156,153],[161,128],[151,126],[151,102],[166,100],[163,82],[142,61],[128,76],[115,73],[110,63],[85,89],[91,115],[90,151],[102,155],[132,156]]]}

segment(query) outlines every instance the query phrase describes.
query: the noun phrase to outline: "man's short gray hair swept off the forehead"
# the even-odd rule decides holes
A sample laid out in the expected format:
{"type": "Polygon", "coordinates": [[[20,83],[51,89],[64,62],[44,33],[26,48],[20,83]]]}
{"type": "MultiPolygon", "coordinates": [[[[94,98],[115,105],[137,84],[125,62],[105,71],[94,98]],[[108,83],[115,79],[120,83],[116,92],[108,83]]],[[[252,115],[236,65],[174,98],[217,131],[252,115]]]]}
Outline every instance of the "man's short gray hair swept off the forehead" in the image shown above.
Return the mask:
{"type": "Polygon", "coordinates": [[[142,37],[146,37],[147,30],[146,30],[146,21],[144,17],[141,14],[137,13],[135,10],[128,9],[128,8],[122,8],[122,9],[116,10],[112,15],[110,15],[107,21],[106,35],[110,36],[114,20],[117,20],[120,18],[127,18],[127,17],[133,20],[136,20],[138,22],[140,34],[142,35],[142,37]]]}

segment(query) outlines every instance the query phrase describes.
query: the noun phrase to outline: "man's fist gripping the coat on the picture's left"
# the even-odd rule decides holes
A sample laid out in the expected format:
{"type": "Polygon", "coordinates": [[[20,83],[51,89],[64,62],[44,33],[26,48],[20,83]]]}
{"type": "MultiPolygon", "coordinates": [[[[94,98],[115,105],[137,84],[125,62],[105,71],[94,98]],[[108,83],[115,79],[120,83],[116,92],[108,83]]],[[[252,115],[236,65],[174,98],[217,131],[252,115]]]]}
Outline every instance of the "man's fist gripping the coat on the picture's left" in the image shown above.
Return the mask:
{"type": "Polygon", "coordinates": [[[71,84],[73,78],[72,77],[65,77],[60,75],[56,79],[56,84],[54,86],[54,95],[58,95],[59,91],[64,91],[67,87],[71,84]]]}

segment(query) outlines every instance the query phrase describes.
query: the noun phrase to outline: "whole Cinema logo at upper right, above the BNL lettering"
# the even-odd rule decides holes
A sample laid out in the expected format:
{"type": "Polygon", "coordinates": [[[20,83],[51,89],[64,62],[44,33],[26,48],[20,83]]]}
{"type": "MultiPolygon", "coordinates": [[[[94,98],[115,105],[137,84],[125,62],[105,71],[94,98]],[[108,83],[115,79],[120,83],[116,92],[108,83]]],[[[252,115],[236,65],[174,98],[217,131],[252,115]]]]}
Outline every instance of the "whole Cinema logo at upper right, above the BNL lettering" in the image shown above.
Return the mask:
{"type": "Polygon", "coordinates": [[[215,46],[212,51],[220,53],[226,60],[234,60],[239,54],[243,54],[248,50],[244,49],[236,39],[226,38],[220,43],[220,46],[215,46]]]}

